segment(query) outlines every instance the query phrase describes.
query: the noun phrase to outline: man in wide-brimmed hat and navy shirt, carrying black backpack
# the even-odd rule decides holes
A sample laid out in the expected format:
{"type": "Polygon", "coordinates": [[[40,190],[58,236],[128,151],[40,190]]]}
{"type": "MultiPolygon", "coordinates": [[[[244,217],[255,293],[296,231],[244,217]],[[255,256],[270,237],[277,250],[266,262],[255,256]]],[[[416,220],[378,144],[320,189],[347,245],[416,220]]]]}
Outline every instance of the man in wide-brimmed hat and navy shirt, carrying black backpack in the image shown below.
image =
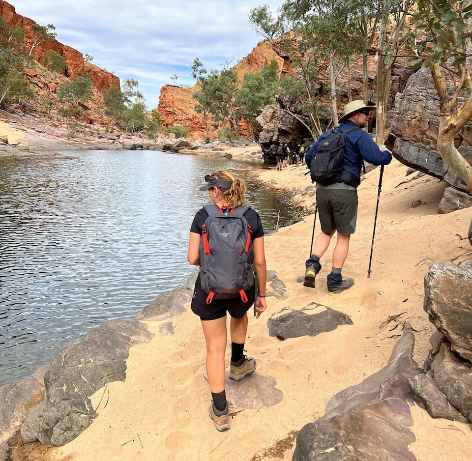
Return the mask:
{"type": "MultiPolygon", "coordinates": [[[[349,239],[355,231],[357,219],[357,186],[360,184],[360,169],[363,160],[373,165],[388,165],[392,156],[388,150],[380,150],[371,135],[362,129],[367,127],[370,112],[376,106],[367,106],[357,99],[346,104],[344,115],[339,119],[336,131],[347,131],[344,148],[342,173],[332,184],[316,186],[316,203],[320,215],[321,233],[315,239],[311,249],[311,257],[305,262],[305,287],[315,288],[315,277],[321,270],[320,258],[329,246],[334,231],[337,241],[333,251],[332,269],[327,276],[329,294],[338,294],[351,288],[354,280],[343,280],[341,270],[349,252],[349,239]]],[[[327,136],[328,131],[313,144],[305,156],[310,168],[312,159],[316,158],[318,146],[327,136]]]]}

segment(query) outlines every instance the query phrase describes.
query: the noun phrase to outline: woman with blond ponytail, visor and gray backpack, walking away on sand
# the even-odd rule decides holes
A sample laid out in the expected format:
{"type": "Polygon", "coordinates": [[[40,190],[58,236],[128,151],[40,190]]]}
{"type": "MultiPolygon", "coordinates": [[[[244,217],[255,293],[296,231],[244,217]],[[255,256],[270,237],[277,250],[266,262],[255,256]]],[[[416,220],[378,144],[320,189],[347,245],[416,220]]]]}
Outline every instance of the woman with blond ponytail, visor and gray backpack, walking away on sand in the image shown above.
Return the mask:
{"type": "Polygon", "coordinates": [[[222,432],[230,429],[225,391],[226,312],[231,316],[230,379],[238,381],[256,370],[256,361],[243,353],[247,311],[254,301],[257,318],[266,310],[267,271],[264,230],[257,212],[243,206],[244,182],[226,170],[207,174],[205,181],[200,190],[208,190],[212,204],[195,215],[188,243],[190,264],[200,265],[191,309],[202,321],[207,343],[206,368],[212,396],[208,414],[222,432]],[[241,275],[252,263],[257,293],[254,272],[241,275]],[[241,277],[244,280],[239,280],[241,277]]]}

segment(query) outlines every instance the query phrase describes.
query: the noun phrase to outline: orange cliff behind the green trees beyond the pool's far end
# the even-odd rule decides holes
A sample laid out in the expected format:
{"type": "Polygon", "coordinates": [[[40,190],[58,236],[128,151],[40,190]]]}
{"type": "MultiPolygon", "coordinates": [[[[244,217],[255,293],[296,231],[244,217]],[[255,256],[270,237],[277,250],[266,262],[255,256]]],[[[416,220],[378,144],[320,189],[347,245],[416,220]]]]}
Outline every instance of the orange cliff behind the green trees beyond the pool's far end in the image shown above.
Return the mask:
{"type": "MultiPolygon", "coordinates": [[[[262,41],[234,67],[239,81],[242,82],[245,73],[261,70],[264,67],[264,62],[272,59],[278,62],[281,76],[283,73],[290,71],[290,62],[279,56],[272,45],[262,41]]],[[[199,85],[197,83],[191,88],[166,85],[161,88],[157,111],[162,115],[163,126],[178,124],[188,128],[189,138],[203,139],[207,137],[203,115],[195,111],[197,101],[193,98],[193,95],[198,91],[199,85]]],[[[220,124],[209,120],[208,125],[209,137],[216,139],[220,124]]],[[[239,126],[239,132],[243,136],[247,135],[247,130],[246,123],[239,126]]]]}

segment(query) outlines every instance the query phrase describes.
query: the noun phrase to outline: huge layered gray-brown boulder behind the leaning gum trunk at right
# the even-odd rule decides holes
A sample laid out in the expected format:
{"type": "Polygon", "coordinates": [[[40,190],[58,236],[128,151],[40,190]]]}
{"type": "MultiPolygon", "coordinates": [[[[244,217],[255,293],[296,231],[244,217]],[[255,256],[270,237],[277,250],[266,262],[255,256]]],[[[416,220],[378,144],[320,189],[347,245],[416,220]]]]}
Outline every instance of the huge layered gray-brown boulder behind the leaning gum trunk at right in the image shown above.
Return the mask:
{"type": "MultiPolygon", "coordinates": [[[[448,85],[452,85],[452,81],[448,85]]],[[[461,93],[458,105],[468,99],[461,93]]],[[[443,179],[446,189],[439,207],[440,213],[449,213],[471,206],[472,195],[467,185],[449,168],[436,150],[440,122],[439,97],[429,72],[414,73],[402,93],[395,98],[393,121],[385,144],[400,162],[421,172],[443,179]]],[[[472,164],[472,122],[455,138],[455,145],[472,164]]]]}

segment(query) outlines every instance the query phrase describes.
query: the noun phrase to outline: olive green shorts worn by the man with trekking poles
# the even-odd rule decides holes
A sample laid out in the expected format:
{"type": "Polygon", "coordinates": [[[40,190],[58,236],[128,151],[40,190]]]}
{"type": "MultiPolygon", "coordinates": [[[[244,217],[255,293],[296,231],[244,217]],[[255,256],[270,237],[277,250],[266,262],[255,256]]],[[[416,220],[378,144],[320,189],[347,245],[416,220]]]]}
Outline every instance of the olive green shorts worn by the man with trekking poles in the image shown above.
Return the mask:
{"type": "Polygon", "coordinates": [[[354,187],[346,184],[317,187],[316,203],[324,233],[354,233],[357,221],[357,190],[354,187]]]}

